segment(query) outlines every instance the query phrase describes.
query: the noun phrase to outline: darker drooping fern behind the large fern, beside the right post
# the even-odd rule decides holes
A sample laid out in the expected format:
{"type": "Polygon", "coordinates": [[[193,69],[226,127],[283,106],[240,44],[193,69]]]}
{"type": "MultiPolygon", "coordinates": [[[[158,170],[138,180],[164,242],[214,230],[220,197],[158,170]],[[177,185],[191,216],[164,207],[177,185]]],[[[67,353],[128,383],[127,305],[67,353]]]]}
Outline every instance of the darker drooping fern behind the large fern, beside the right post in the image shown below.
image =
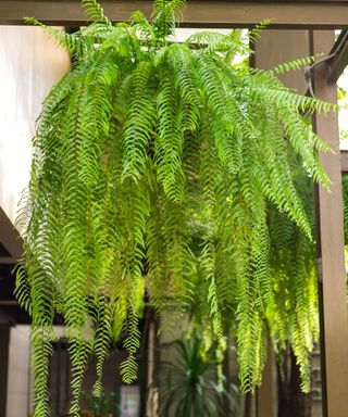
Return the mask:
{"type": "MultiPolygon", "coordinates": [[[[291,172],[314,235],[313,184],[296,157],[291,172]]],[[[319,340],[316,244],[274,206],[269,211],[269,229],[273,299],[266,307],[266,323],[278,361],[289,345],[302,377],[301,388],[309,392],[310,353],[319,340]]]]}

